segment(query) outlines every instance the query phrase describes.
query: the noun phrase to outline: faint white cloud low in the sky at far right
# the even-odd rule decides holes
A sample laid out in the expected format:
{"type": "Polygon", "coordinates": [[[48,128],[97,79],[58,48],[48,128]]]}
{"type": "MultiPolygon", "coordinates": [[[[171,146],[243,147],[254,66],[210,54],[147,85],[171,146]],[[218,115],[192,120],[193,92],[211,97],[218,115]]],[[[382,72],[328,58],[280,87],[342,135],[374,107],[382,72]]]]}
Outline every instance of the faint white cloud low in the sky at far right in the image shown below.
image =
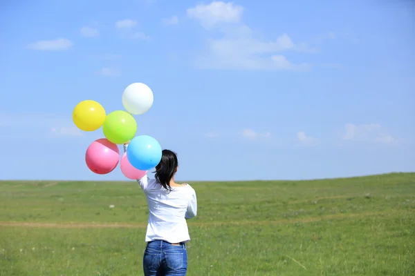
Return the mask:
{"type": "Polygon", "coordinates": [[[380,142],[391,144],[398,139],[391,135],[380,124],[346,124],[342,131],[342,139],[347,141],[380,142]]]}

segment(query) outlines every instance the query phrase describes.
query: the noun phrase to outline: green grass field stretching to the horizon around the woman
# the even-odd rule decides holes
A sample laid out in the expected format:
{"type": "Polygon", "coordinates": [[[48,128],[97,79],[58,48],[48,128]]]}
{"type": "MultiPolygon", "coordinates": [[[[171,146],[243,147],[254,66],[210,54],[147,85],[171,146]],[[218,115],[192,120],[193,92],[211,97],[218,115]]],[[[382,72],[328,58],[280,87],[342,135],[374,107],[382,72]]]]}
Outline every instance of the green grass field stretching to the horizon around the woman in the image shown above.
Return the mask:
{"type": "MultiPolygon", "coordinates": [[[[191,185],[187,275],[415,275],[415,173],[191,185]]],[[[134,181],[2,181],[0,207],[0,275],[142,275],[134,181]]]]}

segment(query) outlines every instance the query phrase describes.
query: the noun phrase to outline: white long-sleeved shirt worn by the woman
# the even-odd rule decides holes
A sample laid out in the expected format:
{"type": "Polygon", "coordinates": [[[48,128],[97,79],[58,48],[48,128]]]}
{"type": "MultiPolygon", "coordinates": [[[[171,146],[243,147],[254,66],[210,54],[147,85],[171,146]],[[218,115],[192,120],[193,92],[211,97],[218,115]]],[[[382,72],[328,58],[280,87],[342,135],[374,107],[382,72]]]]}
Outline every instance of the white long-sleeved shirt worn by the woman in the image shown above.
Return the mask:
{"type": "MultiPolygon", "coordinates": [[[[127,145],[124,145],[124,151],[127,145]]],[[[147,175],[138,179],[138,184],[147,197],[149,221],[145,242],[157,239],[176,244],[190,241],[186,219],[197,213],[196,192],[189,184],[172,187],[171,191],[147,175]]]]}

